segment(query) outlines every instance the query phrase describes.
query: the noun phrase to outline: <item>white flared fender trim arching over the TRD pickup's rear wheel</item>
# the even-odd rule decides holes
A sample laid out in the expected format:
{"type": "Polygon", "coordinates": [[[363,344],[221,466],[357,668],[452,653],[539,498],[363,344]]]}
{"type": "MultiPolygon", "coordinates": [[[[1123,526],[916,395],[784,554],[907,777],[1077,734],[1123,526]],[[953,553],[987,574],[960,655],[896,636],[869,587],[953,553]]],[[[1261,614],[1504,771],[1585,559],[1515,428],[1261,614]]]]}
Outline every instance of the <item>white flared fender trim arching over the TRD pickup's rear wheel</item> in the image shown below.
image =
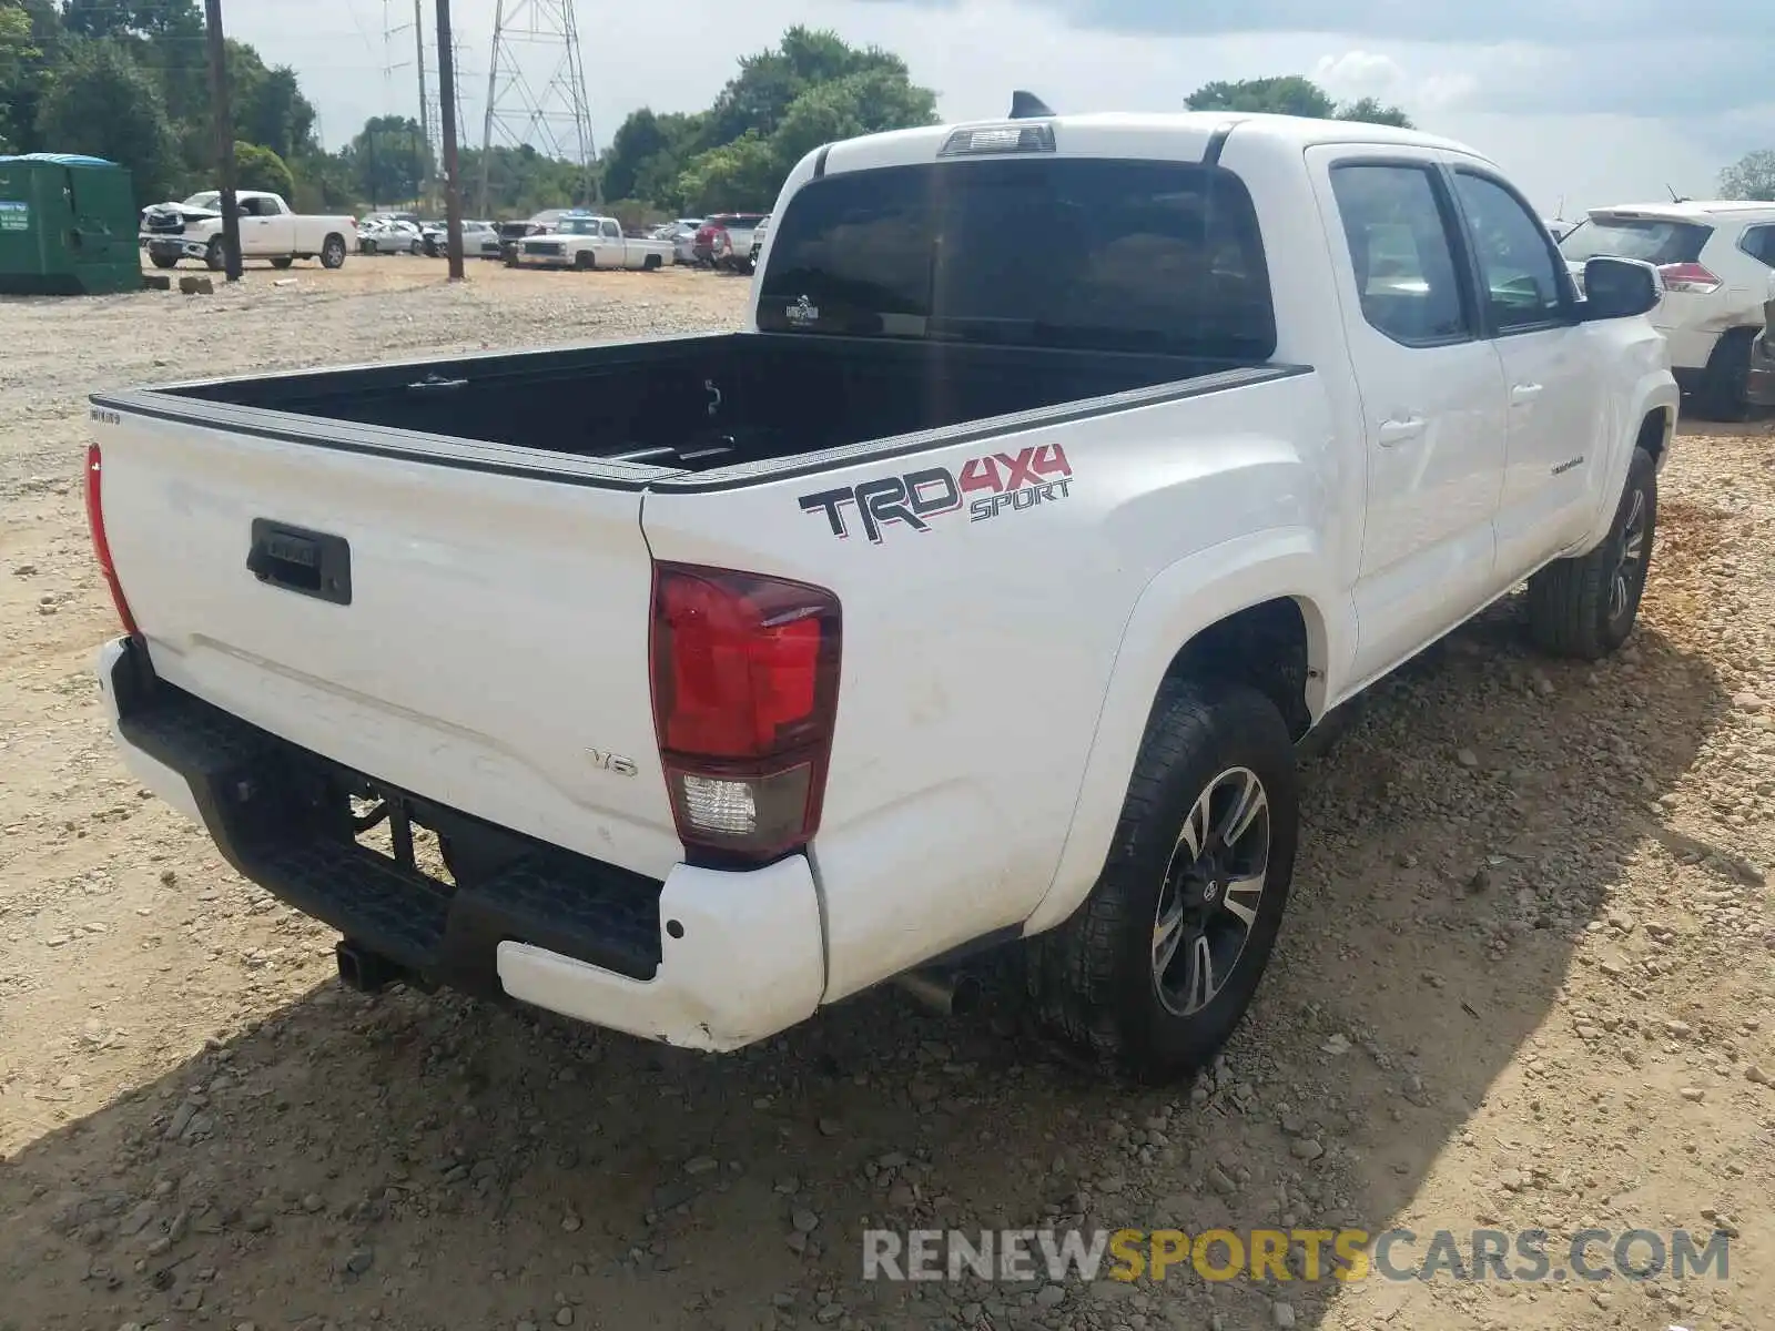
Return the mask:
{"type": "Polygon", "coordinates": [[[1085,760],[1072,822],[1047,894],[1024,933],[1063,923],[1102,871],[1154,699],[1177,653],[1203,628],[1239,610],[1292,598],[1306,625],[1306,706],[1324,712],[1328,662],[1349,657],[1347,616],[1328,619],[1329,561],[1317,534],[1282,527],[1239,536],[1163,568],[1141,591],[1109,667],[1097,731],[1085,760]]]}

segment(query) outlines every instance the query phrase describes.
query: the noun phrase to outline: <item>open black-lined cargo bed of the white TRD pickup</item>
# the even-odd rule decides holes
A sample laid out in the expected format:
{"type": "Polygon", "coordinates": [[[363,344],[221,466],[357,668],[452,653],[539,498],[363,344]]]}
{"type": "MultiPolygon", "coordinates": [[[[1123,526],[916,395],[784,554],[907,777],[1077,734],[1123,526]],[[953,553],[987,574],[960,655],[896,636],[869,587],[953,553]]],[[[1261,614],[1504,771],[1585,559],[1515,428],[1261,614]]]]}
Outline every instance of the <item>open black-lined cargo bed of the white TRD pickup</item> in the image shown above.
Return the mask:
{"type": "Polygon", "coordinates": [[[307,431],[307,442],[355,451],[442,451],[490,470],[552,470],[547,458],[618,463],[575,470],[646,484],[662,470],[769,463],[777,463],[769,474],[783,476],[834,449],[905,445],[909,435],[937,447],[958,442],[948,435],[971,422],[1008,426],[999,419],[1037,412],[1028,424],[1040,424],[1170,401],[1211,387],[1200,383],[1207,376],[1227,387],[1276,373],[1292,371],[1180,355],[742,332],[217,380],[94,401],[291,440],[307,431]]]}

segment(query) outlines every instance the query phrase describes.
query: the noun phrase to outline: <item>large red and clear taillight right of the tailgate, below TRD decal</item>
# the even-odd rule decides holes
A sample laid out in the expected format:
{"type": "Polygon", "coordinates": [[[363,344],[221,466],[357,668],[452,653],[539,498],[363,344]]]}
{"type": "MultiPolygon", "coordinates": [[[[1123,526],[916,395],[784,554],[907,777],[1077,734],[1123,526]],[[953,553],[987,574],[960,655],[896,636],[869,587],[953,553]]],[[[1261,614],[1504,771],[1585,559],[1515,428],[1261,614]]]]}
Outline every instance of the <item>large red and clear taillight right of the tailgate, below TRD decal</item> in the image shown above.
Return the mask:
{"type": "Polygon", "coordinates": [[[838,715],[838,598],[659,564],[650,655],[653,728],[685,847],[758,862],[811,841],[838,715]]]}

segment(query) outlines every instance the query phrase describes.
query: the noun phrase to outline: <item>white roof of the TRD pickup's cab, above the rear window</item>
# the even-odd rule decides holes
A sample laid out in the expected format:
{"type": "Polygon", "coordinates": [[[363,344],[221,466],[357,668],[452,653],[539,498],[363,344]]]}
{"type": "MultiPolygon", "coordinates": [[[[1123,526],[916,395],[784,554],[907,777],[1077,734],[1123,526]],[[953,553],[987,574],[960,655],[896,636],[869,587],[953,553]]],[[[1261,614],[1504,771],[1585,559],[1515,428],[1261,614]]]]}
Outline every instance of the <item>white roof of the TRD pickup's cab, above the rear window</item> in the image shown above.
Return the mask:
{"type": "Polygon", "coordinates": [[[1099,112],[1090,115],[1053,115],[1040,119],[992,119],[932,124],[916,130],[847,138],[831,144],[825,170],[866,170],[870,167],[930,161],[957,130],[1051,126],[1061,156],[1131,156],[1161,160],[1200,160],[1211,140],[1223,130],[1237,130],[1241,147],[1257,142],[1278,154],[1298,154],[1315,144],[1381,144],[1393,147],[1436,147],[1486,160],[1466,144],[1420,130],[1395,130],[1390,124],[1361,121],[1314,121],[1301,115],[1257,115],[1246,112],[1099,112]]]}

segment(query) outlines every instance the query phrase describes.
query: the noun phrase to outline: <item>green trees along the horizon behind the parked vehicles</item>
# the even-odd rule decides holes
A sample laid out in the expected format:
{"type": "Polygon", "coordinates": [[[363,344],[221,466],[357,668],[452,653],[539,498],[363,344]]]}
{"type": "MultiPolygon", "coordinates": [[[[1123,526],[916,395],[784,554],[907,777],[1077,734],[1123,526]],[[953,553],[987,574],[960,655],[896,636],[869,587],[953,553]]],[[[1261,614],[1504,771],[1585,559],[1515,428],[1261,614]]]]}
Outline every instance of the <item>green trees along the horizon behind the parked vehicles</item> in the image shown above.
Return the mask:
{"type": "MultiPolygon", "coordinates": [[[[295,69],[238,41],[225,60],[241,188],[277,190],[311,211],[435,195],[437,163],[415,119],[378,115],[328,153],[295,69]]],[[[1399,106],[1340,105],[1298,75],[1218,80],[1184,105],[1411,124],[1399,106]]],[[[935,119],[937,94],[914,83],[898,55],[793,27],[770,50],[742,57],[705,110],[630,114],[589,172],[529,146],[493,147],[485,211],[522,217],[602,201],[639,222],[767,209],[820,144],[935,119]]],[[[121,161],[140,202],[215,188],[199,0],[0,0],[0,153],[32,151],[121,161]]],[[[465,208],[481,211],[481,151],[465,147],[460,163],[465,208]]],[[[1775,197],[1775,153],[1752,153],[1720,185],[1729,197],[1775,197]]]]}

